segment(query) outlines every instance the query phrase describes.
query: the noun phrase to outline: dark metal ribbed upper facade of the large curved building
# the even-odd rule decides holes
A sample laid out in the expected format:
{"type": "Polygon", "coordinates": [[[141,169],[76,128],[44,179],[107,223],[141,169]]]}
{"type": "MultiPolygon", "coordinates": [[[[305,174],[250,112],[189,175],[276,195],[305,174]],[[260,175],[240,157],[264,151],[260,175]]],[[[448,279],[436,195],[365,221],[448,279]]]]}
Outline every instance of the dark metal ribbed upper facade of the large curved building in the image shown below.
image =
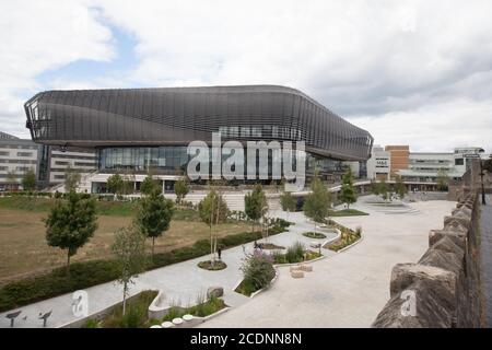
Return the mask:
{"type": "Polygon", "coordinates": [[[221,132],[305,141],[308,152],[362,161],[373,143],[302,92],[276,85],[47,91],[25,112],[34,141],[66,147],[187,145],[221,132]]]}

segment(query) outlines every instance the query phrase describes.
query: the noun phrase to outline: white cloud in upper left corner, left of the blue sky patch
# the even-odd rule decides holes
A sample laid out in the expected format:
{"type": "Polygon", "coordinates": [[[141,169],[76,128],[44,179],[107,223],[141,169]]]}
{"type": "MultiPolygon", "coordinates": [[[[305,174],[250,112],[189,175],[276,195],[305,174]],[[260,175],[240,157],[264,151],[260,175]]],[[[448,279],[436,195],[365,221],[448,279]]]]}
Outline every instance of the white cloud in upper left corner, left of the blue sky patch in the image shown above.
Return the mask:
{"type": "Polygon", "coordinates": [[[87,1],[0,2],[0,129],[26,136],[24,95],[39,73],[80,60],[108,61],[112,33],[87,1]]]}

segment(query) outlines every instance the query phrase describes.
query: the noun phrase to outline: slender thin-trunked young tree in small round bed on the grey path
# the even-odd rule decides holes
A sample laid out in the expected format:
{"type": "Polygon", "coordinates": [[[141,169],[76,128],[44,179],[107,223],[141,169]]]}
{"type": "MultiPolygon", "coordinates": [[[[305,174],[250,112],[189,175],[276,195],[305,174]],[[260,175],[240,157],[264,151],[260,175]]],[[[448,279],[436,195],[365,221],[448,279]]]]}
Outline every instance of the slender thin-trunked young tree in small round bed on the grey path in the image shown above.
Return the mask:
{"type": "Polygon", "coordinates": [[[207,197],[198,203],[198,211],[201,221],[210,229],[210,261],[213,266],[216,252],[216,237],[214,235],[213,226],[227,220],[229,208],[222,195],[211,188],[207,197]]]}

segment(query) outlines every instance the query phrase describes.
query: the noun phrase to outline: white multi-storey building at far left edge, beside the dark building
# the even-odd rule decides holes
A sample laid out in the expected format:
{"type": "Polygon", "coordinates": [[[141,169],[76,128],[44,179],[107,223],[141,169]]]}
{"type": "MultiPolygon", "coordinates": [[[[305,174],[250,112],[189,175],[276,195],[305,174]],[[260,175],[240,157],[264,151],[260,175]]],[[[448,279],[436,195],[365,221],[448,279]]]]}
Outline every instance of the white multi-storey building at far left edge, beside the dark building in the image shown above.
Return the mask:
{"type": "Polygon", "coordinates": [[[22,188],[28,170],[38,172],[39,147],[31,140],[0,132],[0,190],[22,188]]]}

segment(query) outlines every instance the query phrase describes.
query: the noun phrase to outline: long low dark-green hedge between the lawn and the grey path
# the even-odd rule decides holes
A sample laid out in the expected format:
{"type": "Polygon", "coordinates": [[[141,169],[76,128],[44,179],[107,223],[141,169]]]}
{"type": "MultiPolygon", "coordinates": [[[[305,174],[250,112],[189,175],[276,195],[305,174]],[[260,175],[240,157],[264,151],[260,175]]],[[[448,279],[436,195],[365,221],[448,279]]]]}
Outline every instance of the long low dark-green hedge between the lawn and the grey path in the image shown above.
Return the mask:
{"type": "MultiPolygon", "coordinates": [[[[269,234],[281,233],[286,226],[289,226],[286,221],[278,220],[276,225],[269,230],[269,234]]],[[[218,244],[225,249],[259,238],[261,238],[260,232],[244,232],[219,238],[218,244]]],[[[191,246],[155,254],[147,270],[194,259],[209,253],[210,241],[200,240],[191,246]]],[[[49,273],[25,278],[2,287],[0,289],[0,312],[109,282],[117,278],[118,269],[113,259],[73,262],[70,266],[70,277],[67,275],[66,268],[60,267],[49,273]]]]}

